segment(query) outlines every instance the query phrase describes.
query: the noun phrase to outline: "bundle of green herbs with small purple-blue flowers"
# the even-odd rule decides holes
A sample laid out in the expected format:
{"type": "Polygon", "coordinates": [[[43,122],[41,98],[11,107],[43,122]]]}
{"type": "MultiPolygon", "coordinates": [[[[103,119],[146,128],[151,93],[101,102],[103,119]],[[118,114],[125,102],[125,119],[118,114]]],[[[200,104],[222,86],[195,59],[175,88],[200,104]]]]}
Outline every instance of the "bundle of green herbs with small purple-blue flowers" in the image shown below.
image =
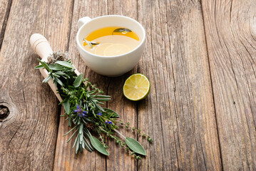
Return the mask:
{"type": "Polygon", "coordinates": [[[65,134],[70,135],[67,142],[75,138],[73,147],[76,149],[76,154],[78,151],[83,152],[83,149],[86,149],[89,152],[97,150],[103,155],[109,155],[105,140],[106,137],[109,137],[113,138],[121,147],[125,147],[126,151],[130,152],[135,159],[140,160],[140,155],[146,155],[143,146],[137,140],[121,134],[119,126],[135,131],[143,138],[147,138],[149,142],[153,142],[152,138],[141,133],[140,129],[131,127],[130,123],[119,120],[119,115],[115,111],[102,108],[103,102],[111,100],[111,97],[103,95],[103,91],[89,82],[88,78],[83,78],[82,73],[77,76],[74,72],[75,68],[67,56],[68,53],[53,52],[48,57],[48,63],[39,60],[39,66],[35,67],[36,69],[46,68],[48,77],[43,80],[43,83],[52,79],[63,99],[59,104],[63,104],[66,112],[61,116],[66,117],[68,126],[72,127],[65,134]],[[96,133],[98,138],[94,137],[93,133],[96,133]],[[118,138],[115,133],[120,135],[123,140],[118,138]]]}

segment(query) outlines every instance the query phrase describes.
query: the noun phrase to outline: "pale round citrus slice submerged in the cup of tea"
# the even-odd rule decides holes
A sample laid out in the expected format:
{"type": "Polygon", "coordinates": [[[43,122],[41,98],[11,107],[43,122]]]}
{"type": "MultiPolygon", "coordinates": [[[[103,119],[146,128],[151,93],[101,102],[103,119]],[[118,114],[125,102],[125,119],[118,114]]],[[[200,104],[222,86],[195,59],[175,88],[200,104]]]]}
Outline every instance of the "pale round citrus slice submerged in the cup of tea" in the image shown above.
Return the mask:
{"type": "Polygon", "coordinates": [[[121,43],[115,43],[105,48],[104,56],[118,56],[123,53],[127,53],[128,51],[130,51],[129,46],[126,46],[125,44],[121,44],[121,43]]]}

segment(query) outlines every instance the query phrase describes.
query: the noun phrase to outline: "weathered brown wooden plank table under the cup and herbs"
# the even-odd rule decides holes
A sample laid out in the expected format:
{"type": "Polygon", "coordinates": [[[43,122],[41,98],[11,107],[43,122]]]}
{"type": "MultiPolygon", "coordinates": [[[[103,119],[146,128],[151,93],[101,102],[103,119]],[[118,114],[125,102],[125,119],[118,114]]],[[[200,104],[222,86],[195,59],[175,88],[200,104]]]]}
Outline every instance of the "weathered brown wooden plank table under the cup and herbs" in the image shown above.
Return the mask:
{"type": "Polygon", "coordinates": [[[1,0],[0,31],[0,105],[10,111],[1,115],[0,170],[256,170],[255,0],[1,0]],[[143,58],[118,78],[91,71],[76,48],[78,19],[108,14],[138,20],[147,34],[143,58]],[[107,107],[152,135],[150,144],[127,133],[147,157],[137,162],[112,140],[109,157],[75,155],[63,108],[34,69],[32,33],[71,53],[112,96],[107,107]],[[122,94],[133,73],[151,83],[138,103],[122,94]]]}

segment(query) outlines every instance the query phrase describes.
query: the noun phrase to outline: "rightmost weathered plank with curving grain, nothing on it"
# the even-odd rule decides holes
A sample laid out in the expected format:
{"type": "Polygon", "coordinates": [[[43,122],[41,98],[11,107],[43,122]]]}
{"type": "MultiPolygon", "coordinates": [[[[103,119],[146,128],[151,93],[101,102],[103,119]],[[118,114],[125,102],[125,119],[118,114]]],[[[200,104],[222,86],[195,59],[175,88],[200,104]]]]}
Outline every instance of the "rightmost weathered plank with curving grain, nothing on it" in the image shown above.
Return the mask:
{"type": "Polygon", "coordinates": [[[224,170],[256,170],[256,1],[203,1],[224,170]]]}

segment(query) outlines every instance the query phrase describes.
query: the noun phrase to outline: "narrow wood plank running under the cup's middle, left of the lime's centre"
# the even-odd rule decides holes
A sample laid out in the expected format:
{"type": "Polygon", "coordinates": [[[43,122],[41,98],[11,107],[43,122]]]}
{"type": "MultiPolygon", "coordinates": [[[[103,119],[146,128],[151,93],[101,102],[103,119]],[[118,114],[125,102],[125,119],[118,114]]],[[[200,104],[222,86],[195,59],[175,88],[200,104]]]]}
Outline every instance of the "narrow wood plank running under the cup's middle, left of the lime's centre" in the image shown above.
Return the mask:
{"type": "MultiPolygon", "coordinates": [[[[124,15],[132,19],[137,19],[137,1],[135,0],[108,0],[109,15],[124,15]]],[[[108,86],[108,95],[112,100],[108,102],[108,108],[116,110],[120,119],[131,126],[137,127],[137,103],[126,99],[123,95],[123,83],[131,74],[137,73],[138,66],[132,71],[118,78],[111,78],[108,86]]],[[[121,133],[127,137],[137,139],[137,135],[131,130],[121,128],[121,133]]],[[[106,170],[137,170],[137,161],[131,157],[125,148],[116,145],[116,142],[108,140],[111,155],[107,158],[106,170]]]]}

